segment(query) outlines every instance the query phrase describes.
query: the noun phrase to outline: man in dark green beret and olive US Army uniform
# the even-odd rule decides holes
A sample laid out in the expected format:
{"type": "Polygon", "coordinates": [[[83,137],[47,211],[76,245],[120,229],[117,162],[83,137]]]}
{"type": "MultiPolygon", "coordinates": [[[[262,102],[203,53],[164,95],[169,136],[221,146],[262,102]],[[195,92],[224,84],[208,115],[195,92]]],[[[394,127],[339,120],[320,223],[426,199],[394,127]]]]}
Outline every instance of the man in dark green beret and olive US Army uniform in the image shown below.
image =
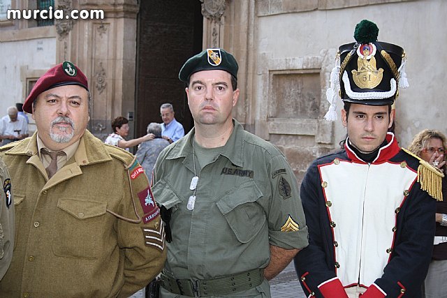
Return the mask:
{"type": "Polygon", "coordinates": [[[171,232],[161,297],[270,297],[268,280],[307,246],[284,154],[231,117],[237,69],[232,54],[207,49],[180,70],[194,128],[154,168],[171,232]]]}

